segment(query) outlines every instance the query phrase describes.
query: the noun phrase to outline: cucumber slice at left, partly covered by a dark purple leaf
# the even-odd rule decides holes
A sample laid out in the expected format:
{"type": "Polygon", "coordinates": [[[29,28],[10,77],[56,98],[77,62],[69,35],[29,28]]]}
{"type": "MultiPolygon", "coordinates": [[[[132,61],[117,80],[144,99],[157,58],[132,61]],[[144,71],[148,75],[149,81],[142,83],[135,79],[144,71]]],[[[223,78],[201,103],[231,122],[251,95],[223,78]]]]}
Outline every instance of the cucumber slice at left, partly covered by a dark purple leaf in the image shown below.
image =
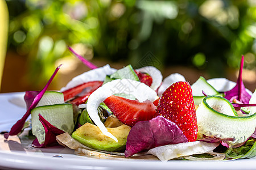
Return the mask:
{"type": "Polygon", "coordinates": [[[36,107],[31,111],[32,134],[38,138],[39,143],[44,142],[44,128],[39,121],[41,114],[48,122],[69,134],[74,129],[72,104],[54,104],[36,107]]]}

